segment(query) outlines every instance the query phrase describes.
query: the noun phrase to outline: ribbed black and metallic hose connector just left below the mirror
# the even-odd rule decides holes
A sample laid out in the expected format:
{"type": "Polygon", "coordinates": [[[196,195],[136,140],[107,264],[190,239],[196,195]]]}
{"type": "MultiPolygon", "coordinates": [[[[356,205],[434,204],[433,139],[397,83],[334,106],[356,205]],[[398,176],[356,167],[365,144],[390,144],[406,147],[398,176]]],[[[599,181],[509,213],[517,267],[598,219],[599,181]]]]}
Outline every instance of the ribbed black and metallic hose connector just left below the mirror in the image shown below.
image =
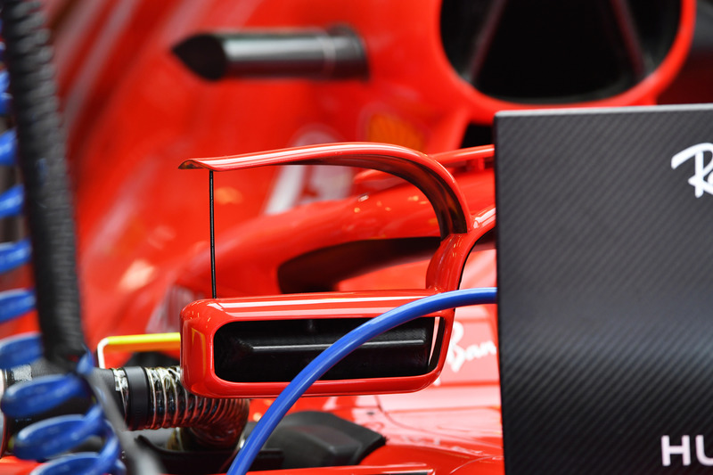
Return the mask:
{"type": "Polygon", "coordinates": [[[181,384],[178,366],[141,368],[148,382],[148,394],[136,392],[136,376],[120,368],[114,373],[115,389],[120,393],[129,429],[186,428],[180,436],[184,445],[204,448],[232,448],[248,421],[249,400],[196,396],[181,384]],[[143,401],[148,405],[143,406],[143,401]],[[142,407],[143,406],[143,407],[142,407]]]}

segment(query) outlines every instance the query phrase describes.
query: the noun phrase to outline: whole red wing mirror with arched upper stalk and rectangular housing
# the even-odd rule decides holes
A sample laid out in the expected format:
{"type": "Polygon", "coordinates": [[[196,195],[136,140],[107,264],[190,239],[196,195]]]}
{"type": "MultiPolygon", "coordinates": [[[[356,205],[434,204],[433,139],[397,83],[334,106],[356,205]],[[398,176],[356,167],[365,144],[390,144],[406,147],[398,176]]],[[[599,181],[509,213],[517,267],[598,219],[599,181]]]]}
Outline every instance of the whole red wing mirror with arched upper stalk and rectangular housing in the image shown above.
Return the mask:
{"type": "MultiPolygon", "coordinates": [[[[455,290],[472,246],[495,224],[494,209],[471,217],[446,168],[425,154],[397,145],[333,143],[188,160],[181,168],[208,168],[212,184],[214,171],[289,164],[372,168],[418,187],[436,211],[441,235],[427,272],[427,287],[193,302],[181,312],[181,366],[184,386],[195,394],[278,396],[304,366],[359,324],[415,299],[455,290]]],[[[382,333],[335,364],[307,394],[425,388],[438,378],[446,361],[453,318],[454,311],[445,310],[382,333]]]]}

